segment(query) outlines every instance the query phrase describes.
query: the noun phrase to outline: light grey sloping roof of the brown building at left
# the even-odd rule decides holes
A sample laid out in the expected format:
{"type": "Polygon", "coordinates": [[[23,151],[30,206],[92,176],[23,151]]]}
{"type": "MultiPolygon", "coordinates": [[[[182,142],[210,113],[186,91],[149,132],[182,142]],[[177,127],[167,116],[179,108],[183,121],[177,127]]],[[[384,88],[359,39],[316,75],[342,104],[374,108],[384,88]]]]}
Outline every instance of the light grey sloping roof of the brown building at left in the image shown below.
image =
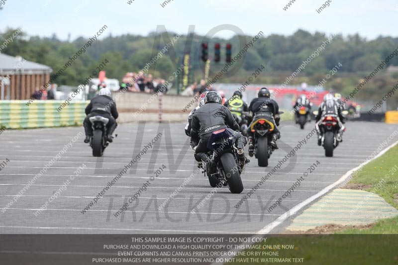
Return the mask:
{"type": "Polygon", "coordinates": [[[11,71],[21,71],[24,74],[37,74],[37,73],[51,73],[52,69],[49,66],[23,61],[19,56],[13,57],[6,54],[0,54],[0,75],[9,74],[11,71]]]}

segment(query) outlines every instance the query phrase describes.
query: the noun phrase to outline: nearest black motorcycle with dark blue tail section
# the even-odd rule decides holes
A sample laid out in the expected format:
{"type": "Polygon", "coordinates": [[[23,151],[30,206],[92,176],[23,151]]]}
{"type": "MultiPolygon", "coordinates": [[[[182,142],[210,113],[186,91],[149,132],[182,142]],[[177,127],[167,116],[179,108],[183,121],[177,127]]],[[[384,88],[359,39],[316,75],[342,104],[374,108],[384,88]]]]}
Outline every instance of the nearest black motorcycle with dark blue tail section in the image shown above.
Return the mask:
{"type": "Polygon", "coordinates": [[[207,175],[210,186],[228,186],[232,193],[241,193],[243,183],[240,178],[242,168],[240,165],[245,161],[244,153],[239,153],[235,146],[236,136],[229,129],[214,131],[207,143],[210,161],[201,163],[203,173],[207,175]],[[213,166],[209,166],[213,165],[213,166]]]}

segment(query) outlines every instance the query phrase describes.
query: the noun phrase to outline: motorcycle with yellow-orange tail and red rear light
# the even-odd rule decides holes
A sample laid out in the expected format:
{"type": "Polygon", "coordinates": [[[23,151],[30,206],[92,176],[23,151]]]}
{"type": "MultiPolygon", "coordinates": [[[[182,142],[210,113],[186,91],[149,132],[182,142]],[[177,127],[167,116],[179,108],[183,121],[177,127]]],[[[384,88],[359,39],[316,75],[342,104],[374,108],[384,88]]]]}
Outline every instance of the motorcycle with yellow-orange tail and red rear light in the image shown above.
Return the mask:
{"type": "MultiPolygon", "coordinates": [[[[279,112],[279,114],[282,113],[282,111],[279,112]]],[[[274,130],[274,124],[271,119],[271,113],[264,113],[263,116],[257,117],[250,126],[250,130],[253,132],[254,157],[257,158],[259,167],[268,167],[268,159],[274,151],[271,146],[271,132],[274,130]]]]}

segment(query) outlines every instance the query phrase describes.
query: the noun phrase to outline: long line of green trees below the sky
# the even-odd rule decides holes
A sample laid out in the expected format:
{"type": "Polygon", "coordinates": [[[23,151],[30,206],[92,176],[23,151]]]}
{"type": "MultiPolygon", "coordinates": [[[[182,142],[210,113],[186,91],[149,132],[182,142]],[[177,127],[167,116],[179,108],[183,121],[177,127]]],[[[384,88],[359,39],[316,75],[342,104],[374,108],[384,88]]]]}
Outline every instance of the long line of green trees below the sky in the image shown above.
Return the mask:
{"type": "MultiPolygon", "coordinates": [[[[0,44],[12,36],[16,30],[8,28],[5,32],[0,33],[0,44]]],[[[172,32],[167,34],[171,38],[177,35],[172,32]]],[[[150,33],[147,36],[133,34],[108,35],[94,42],[79,57],[79,60],[74,62],[72,67],[58,77],[57,83],[77,86],[84,82],[105,59],[109,61],[105,69],[108,78],[121,80],[126,72],[139,72],[153,59],[154,54],[167,43],[166,40],[162,39],[158,47],[154,47],[154,43],[157,43],[155,42],[157,37],[159,36],[156,33],[150,33]]],[[[171,57],[165,54],[151,66],[148,73],[165,79],[172,75],[175,71],[175,65],[182,61],[187,38],[192,38],[193,43],[191,47],[192,71],[196,74],[195,79],[202,78],[200,69],[204,68],[204,64],[199,57],[203,36],[196,34],[181,35],[175,44],[174,49],[180,62],[172,62],[171,57]]],[[[248,40],[251,38],[252,36],[247,36],[248,40]]],[[[239,72],[233,78],[221,80],[220,82],[239,82],[240,78],[247,77],[248,73],[255,71],[260,65],[264,65],[266,66],[265,74],[257,82],[282,84],[292,72],[298,69],[302,61],[306,60],[328,38],[329,36],[325,33],[310,33],[304,30],[298,30],[290,36],[271,34],[261,37],[246,52],[244,63],[239,72]]],[[[86,42],[87,39],[83,37],[73,41],[60,40],[55,34],[51,37],[28,36],[22,30],[1,52],[11,56],[19,55],[26,60],[44,64],[56,70],[62,68],[69,61],[69,58],[76,54],[78,49],[86,42]]],[[[226,43],[233,45],[232,54],[236,54],[240,50],[238,48],[239,36],[234,36],[230,39],[213,38],[208,45],[210,57],[214,57],[214,44],[217,42],[222,45],[221,62],[212,62],[211,67],[213,69],[221,69],[225,64],[226,43]]],[[[316,85],[325,74],[340,63],[342,65],[341,69],[325,86],[329,86],[336,91],[350,91],[352,87],[357,85],[359,79],[369,75],[397,47],[398,38],[389,36],[380,36],[374,40],[367,40],[359,34],[349,36],[336,35],[330,44],[292,81],[292,85],[303,81],[314,83],[310,85],[316,85]]],[[[398,66],[398,56],[390,60],[385,69],[390,65],[398,66]]],[[[369,89],[369,91],[364,90],[364,96],[358,96],[359,98],[377,97],[379,91],[387,91],[397,78],[397,74],[388,76],[384,70],[369,84],[372,89],[369,89]]]]}

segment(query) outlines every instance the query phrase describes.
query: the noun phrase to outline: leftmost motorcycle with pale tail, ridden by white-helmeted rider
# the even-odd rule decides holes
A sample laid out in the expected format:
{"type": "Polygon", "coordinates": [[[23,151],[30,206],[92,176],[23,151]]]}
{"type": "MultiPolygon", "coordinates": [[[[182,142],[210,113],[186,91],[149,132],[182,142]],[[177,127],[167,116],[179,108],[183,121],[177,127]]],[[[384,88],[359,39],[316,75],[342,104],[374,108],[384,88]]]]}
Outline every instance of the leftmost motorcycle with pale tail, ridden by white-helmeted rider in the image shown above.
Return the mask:
{"type": "Polygon", "coordinates": [[[90,117],[93,127],[93,136],[91,137],[90,146],[93,148],[93,156],[101,157],[105,148],[109,145],[106,138],[106,124],[109,119],[102,116],[90,117]]]}

